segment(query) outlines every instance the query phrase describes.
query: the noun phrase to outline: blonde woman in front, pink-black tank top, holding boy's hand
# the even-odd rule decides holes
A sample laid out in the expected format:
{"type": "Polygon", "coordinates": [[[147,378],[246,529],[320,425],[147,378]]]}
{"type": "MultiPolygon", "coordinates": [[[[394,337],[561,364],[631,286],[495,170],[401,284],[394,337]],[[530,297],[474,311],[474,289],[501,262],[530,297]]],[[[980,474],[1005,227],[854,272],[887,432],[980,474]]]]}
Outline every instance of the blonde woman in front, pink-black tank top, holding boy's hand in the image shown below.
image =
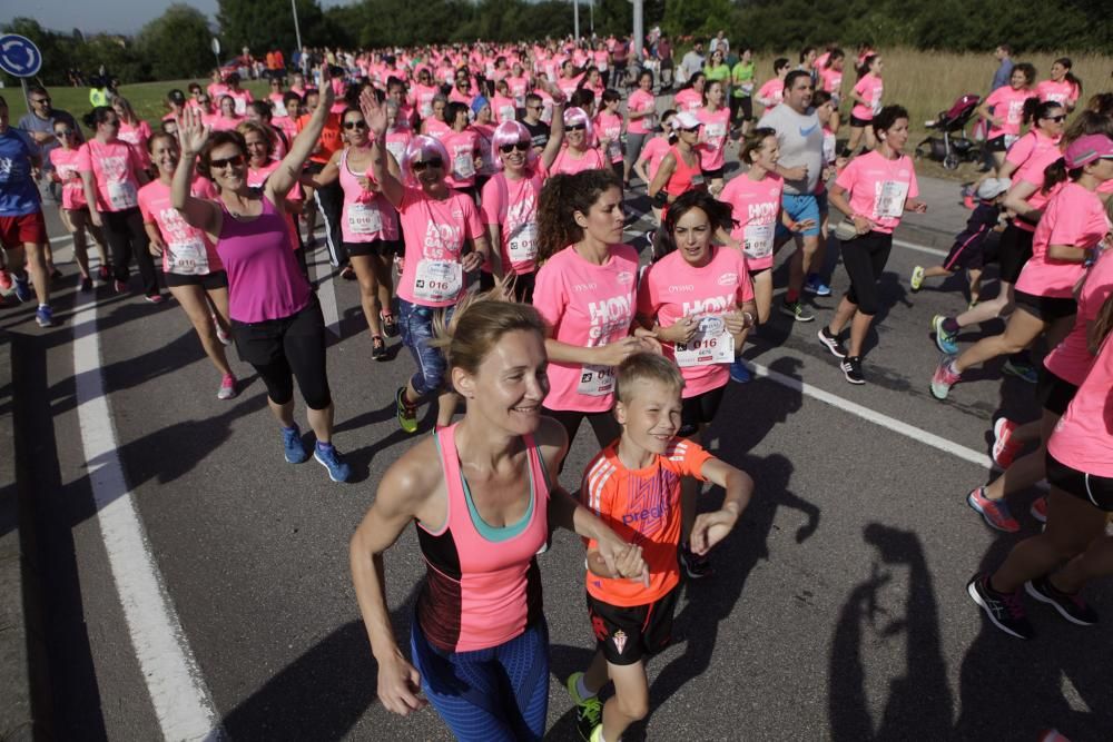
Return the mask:
{"type": "Polygon", "coordinates": [[[568,438],[541,413],[549,379],[536,310],[481,298],[460,308],[444,339],[467,410],[391,466],[351,543],[378,696],[401,715],[431,702],[464,742],[541,740],[549,640],[536,554],[549,528],[601,536],[626,577],[643,578],[646,565],[639,546],[555,484],[568,438]],[[411,522],[426,563],[413,664],[394,640],[382,578],[383,553],[411,522]]]}

